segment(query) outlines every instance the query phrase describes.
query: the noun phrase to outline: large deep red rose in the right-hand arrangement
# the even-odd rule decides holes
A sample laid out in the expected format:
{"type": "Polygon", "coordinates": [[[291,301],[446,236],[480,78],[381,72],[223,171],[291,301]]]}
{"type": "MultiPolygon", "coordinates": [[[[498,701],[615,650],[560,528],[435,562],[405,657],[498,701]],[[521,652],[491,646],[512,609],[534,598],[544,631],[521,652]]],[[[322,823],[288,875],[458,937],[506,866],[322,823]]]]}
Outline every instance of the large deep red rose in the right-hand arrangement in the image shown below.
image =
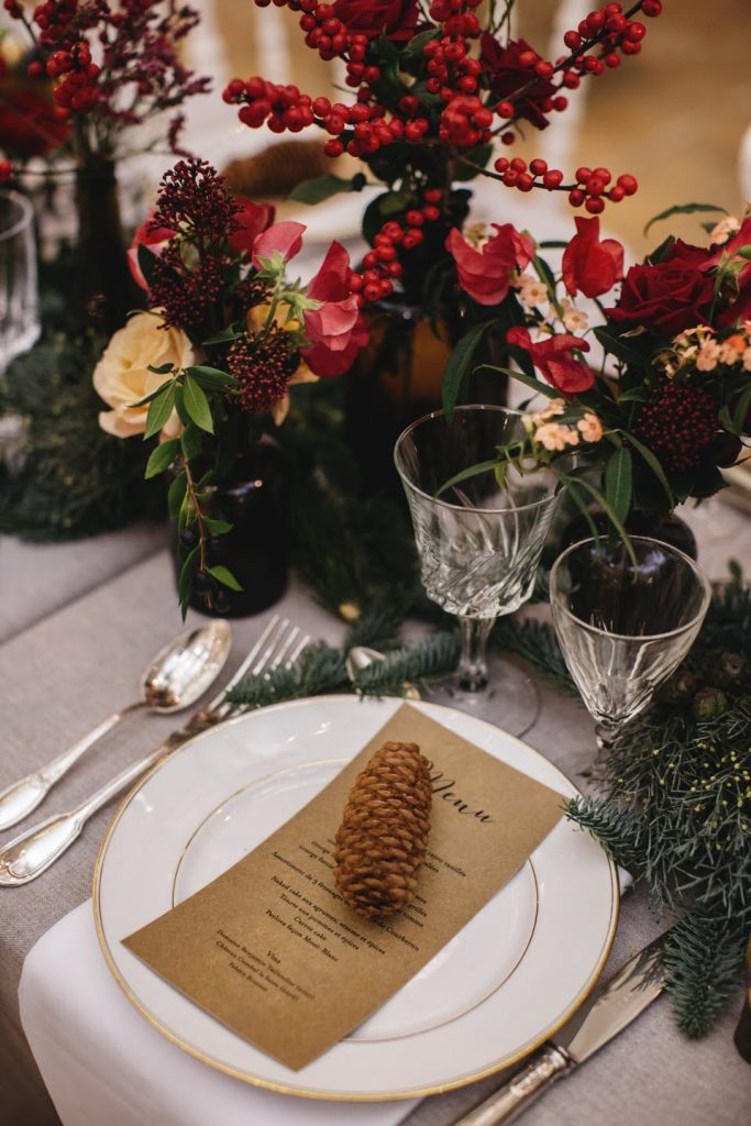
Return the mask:
{"type": "Polygon", "coordinates": [[[664,262],[632,266],[618,304],[605,312],[617,324],[644,325],[667,337],[700,323],[706,319],[701,310],[712,300],[713,283],[692,259],[692,254],[683,258],[682,247],[678,247],[676,256],[664,262]]]}

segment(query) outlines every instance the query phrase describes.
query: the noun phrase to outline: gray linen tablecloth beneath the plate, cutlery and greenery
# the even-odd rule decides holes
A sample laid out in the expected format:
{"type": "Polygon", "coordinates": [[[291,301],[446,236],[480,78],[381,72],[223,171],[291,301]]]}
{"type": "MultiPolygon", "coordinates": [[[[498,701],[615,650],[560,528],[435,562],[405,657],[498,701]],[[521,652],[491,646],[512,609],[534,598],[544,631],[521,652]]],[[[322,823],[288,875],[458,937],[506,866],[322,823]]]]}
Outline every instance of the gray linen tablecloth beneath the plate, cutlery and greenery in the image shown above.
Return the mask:
{"type": "MultiPolygon", "coordinates": [[[[723,557],[749,557],[748,525],[723,557]],[[745,551],[744,551],[745,548],[745,551]]],[[[713,568],[716,570],[716,568],[713,568]]],[[[722,570],[722,568],[719,568],[722,570]]],[[[343,626],[292,588],[277,609],[313,636],[340,640],[343,626]]],[[[233,662],[258,635],[268,614],[236,624],[233,662]]],[[[133,698],[138,674],[180,626],[173,580],[166,553],[131,568],[88,596],[50,615],[0,646],[0,715],[3,751],[0,788],[68,745],[90,726],[133,698]]],[[[230,664],[230,671],[232,662],[230,664]]],[[[502,716],[498,717],[502,725],[502,716]]],[[[175,718],[136,716],[108,736],[53,793],[45,812],[54,813],[140,757],[175,718]]],[[[574,779],[591,761],[591,721],[574,700],[543,689],[543,708],[528,742],[574,779]]],[[[2,891],[0,909],[0,1124],[47,1126],[54,1109],[46,1097],[18,1026],[17,984],[34,941],[90,893],[93,859],[110,811],[100,812],[82,840],[50,873],[27,887],[2,891]]],[[[12,832],[12,830],[10,831],[12,832]]],[[[610,966],[660,929],[638,895],[624,903],[610,966]]],[[[607,971],[606,971],[607,973],[607,971]]],[[[739,1000],[740,1006],[740,1000],[739,1000]]],[[[737,1009],[737,1006],[735,1007],[737,1009]]],[[[706,1040],[689,1044],[658,1002],[579,1075],[560,1084],[526,1117],[528,1126],[746,1126],[751,1069],[736,1055],[728,1011],[706,1040]]],[[[480,1097],[474,1090],[427,1100],[411,1126],[444,1126],[480,1097]]],[[[98,1124],[92,1124],[98,1126],[98,1124]]],[[[262,1124],[259,1124],[262,1126],[262,1124]]]]}

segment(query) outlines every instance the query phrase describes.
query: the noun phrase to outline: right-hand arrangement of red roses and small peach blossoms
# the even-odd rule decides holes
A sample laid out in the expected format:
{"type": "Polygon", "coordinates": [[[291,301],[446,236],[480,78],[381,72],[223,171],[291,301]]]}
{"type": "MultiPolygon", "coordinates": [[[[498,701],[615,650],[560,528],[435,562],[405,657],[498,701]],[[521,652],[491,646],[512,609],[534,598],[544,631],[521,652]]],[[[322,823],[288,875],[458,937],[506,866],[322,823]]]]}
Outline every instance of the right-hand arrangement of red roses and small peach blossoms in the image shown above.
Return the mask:
{"type": "MultiPolygon", "coordinates": [[[[671,213],[686,209],[696,205],[671,213]]],[[[519,361],[510,374],[548,403],[525,415],[522,443],[499,450],[500,477],[509,464],[562,464],[575,450],[569,494],[587,519],[597,500],[624,535],[635,511],[723,486],[751,410],[751,213],[710,225],[708,247],[668,238],[625,274],[599,218],[578,218],[560,272],[522,271],[511,285],[527,323],[507,333],[519,361]]],[[[455,396],[448,385],[449,409],[455,396]]]]}

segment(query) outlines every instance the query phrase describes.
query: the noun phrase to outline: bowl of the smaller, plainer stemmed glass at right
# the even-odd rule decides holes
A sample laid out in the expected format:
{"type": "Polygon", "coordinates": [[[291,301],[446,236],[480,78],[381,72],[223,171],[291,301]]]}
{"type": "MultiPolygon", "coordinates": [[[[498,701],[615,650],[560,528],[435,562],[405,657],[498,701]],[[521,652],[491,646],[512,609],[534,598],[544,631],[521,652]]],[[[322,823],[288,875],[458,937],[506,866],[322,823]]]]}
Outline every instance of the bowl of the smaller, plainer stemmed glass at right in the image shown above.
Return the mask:
{"type": "Polygon", "coordinates": [[[551,571],[553,624],[602,752],[683,660],[712,595],[677,547],[647,536],[631,547],[583,539],[551,571]]]}

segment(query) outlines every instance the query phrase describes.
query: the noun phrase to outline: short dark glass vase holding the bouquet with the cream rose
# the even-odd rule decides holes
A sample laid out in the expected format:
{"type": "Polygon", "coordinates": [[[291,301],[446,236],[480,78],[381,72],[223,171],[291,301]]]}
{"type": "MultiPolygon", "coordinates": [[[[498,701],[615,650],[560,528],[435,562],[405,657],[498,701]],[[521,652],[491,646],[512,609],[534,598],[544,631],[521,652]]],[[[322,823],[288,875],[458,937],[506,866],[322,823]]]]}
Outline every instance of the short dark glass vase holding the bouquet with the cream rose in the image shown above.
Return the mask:
{"type": "MultiPolygon", "coordinates": [[[[272,606],[287,587],[287,497],[288,471],[284,453],[266,443],[256,443],[236,458],[232,473],[208,485],[205,508],[213,520],[226,520],[232,530],[207,544],[207,566],[227,568],[242,587],[230,590],[197,575],[190,607],[220,618],[242,618],[272,606]]],[[[177,525],[173,521],[176,577],[177,525]]],[[[182,533],[193,546],[195,533],[182,533]]]]}

